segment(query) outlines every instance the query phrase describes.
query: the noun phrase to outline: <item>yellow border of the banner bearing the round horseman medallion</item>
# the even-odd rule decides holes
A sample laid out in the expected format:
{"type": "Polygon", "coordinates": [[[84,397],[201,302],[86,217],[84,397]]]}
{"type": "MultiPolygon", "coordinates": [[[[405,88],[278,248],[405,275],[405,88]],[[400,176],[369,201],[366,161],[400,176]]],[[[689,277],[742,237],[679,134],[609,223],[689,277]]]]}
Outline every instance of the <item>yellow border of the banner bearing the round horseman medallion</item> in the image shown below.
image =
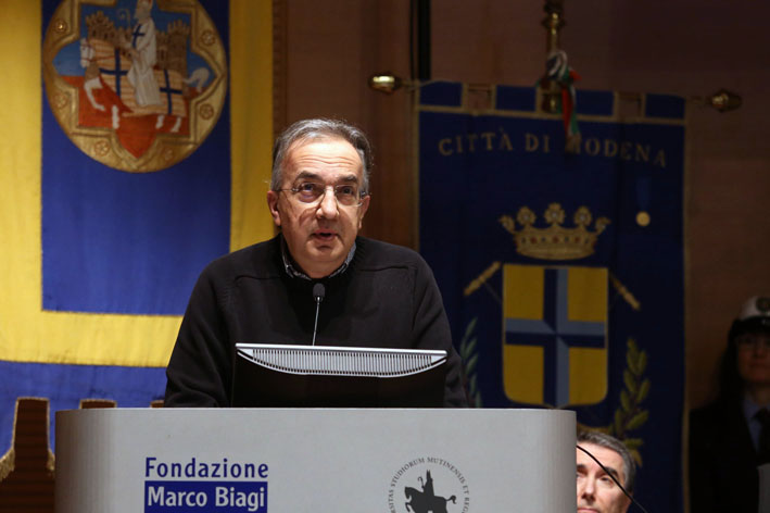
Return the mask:
{"type": "MultiPolygon", "coordinates": [[[[0,358],[165,366],[181,317],[45,312],[41,298],[41,5],[5,0],[0,55],[0,358]],[[115,350],[119,348],[119,351],[115,350]]],[[[273,235],[265,205],[273,139],[268,0],[230,1],[230,249],[273,235]]]]}

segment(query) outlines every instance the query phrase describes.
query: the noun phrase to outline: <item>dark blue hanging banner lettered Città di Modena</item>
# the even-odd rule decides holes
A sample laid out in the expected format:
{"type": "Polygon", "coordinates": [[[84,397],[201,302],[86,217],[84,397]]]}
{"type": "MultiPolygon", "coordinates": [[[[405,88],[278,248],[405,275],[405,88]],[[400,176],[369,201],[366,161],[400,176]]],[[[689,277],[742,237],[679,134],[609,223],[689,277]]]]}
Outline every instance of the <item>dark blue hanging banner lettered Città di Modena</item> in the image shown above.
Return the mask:
{"type": "Polygon", "coordinates": [[[579,91],[581,140],[533,88],[420,88],[420,252],[483,408],[568,408],[623,440],[649,511],[682,509],[684,101],[633,118],[579,91]]]}

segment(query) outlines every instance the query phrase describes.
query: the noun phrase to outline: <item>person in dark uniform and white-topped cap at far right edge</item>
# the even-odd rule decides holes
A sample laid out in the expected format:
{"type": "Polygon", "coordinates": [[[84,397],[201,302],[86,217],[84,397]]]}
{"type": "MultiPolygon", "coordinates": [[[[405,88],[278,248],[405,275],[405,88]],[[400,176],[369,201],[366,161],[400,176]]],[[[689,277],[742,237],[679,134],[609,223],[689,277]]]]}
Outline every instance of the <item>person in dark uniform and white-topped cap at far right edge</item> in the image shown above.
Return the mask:
{"type": "Polygon", "coordinates": [[[690,414],[692,513],[757,513],[770,462],[770,297],[748,299],[728,335],[717,400],[690,414]]]}

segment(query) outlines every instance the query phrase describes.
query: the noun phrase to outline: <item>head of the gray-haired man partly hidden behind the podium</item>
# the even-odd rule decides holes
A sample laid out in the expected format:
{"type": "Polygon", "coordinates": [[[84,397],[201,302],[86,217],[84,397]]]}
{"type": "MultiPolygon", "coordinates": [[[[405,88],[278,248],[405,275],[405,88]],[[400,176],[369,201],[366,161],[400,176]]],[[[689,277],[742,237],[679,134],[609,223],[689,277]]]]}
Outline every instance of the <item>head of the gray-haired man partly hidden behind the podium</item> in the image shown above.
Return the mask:
{"type": "Polygon", "coordinates": [[[636,464],[623,442],[601,431],[578,434],[578,446],[602,462],[602,468],[591,456],[576,449],[578,479],[578,512],[624,513],[631,499],[615,484],[609,472],[626,491],[633,492],[636,464]]]}

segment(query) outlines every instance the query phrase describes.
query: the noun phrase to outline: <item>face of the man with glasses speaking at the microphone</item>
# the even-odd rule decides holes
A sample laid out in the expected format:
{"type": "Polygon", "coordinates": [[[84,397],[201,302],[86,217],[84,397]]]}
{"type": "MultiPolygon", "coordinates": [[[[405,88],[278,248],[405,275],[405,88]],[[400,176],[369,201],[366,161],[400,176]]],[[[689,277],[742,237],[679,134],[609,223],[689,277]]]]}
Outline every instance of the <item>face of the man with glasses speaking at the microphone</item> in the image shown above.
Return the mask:
{"type": "Polygon", "coordinates": [[[273,221],[283,233],[291,256],[311,278],[323,278],[348,256],[370,197],[353,205],[337,201],[333,187],[352,185],[358,190],[363,187],[361,157],[344,139],[300,140],[289,147],[280,188],[307,184],[326,187],[318,201],[304,203],[291,190],[270,190],[267,204],[273,221]]]}

